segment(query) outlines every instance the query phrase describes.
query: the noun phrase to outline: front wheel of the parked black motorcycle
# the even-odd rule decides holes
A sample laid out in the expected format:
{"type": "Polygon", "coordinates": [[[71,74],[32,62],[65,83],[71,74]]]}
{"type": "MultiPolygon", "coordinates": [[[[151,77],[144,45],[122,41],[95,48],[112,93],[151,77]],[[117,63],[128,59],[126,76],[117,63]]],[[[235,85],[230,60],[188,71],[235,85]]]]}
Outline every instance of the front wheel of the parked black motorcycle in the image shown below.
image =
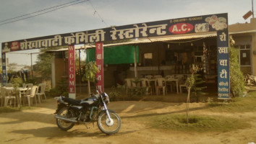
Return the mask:
{"type": "Polygon", "coordinates": [[[101,112],[98,115],[98,128],[101,132],[107,135],[114,134],[119,131],[121,127],[121,118],[115,112],[108,112],[111,120],[108,119],[106,112],[101,112]]]}

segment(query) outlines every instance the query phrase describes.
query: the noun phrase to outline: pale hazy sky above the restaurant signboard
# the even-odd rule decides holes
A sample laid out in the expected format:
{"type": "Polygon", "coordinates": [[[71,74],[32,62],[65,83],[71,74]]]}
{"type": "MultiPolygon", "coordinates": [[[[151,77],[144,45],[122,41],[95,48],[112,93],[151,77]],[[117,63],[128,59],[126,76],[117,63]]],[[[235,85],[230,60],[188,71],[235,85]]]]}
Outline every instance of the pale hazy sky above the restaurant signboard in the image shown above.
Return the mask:
{"type": "MultiPolygon", "coordinates": [[[[243,19],[243,15],[252,10],[252,0],[78,0],[80,4],[72,1],[75,0],[0,0],[0,43],[207,14],[228,13],[229,24],[249,22],[252,18],[243,19]],[[74,5],[63,5],[67,7],[49,12],[52,9],[48,8],[67,3],[74,5]],[[43,9],[48,11],[38,12],[43,9]],[[32,17],[35,14],[31,13],[40,15],[32,17]],[[20,17],[25,14],[30,15],[20,17]],[[12,19],[14,17],[19,18],[12,19]],[[26,17],[31,18],[24,19],[26,17]],[[11,20],[4,21],[6,19],[11,20]],[[12,22],[14,20],[18,21],[12,22]]],[[[256,9],[255,5],[256,1],[256,9]]],[[[23,50],[20,52],[23,54],[7,53],[7,58],[9,63],[30,66],[31,55],[27,53],[38,52],[23,50]]],[[[32,54],[33,63],[36,56],[32,54]]]]}

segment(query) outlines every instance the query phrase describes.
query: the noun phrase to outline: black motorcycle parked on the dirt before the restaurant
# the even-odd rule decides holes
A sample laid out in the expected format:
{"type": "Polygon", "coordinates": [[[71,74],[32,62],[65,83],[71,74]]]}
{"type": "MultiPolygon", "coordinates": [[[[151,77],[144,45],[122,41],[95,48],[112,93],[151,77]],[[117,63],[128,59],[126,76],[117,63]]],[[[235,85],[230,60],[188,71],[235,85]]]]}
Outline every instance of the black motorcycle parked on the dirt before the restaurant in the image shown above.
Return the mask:
{"type": "Polygon", "coordinates": [[[65,96],[55,97],[58,108],[54,114],[61,130],[69,130],[74,124],[97,122],[101,132],[114,134],[121,127],[121,118],[116,112],[107,108],[109,97],[106,93],[90,94],[87,99],[76,100],[65,96]]]}

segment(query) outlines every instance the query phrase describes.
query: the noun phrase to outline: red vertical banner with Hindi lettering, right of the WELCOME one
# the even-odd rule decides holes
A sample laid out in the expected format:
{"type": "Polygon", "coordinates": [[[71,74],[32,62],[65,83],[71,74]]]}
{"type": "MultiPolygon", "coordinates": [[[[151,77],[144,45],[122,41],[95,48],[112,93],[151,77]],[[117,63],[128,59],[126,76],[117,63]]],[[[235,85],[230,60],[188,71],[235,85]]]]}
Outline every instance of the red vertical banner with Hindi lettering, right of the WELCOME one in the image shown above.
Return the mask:
{"type": "Polygon", "coordinates": [[[104,91],[104,78],[103,78],[103,43],[96,42],[96,65],[98,66],[98,70],[100,72],[96,73],[96,78],[98,79],[97,89],[100,92],[104,91]]]}

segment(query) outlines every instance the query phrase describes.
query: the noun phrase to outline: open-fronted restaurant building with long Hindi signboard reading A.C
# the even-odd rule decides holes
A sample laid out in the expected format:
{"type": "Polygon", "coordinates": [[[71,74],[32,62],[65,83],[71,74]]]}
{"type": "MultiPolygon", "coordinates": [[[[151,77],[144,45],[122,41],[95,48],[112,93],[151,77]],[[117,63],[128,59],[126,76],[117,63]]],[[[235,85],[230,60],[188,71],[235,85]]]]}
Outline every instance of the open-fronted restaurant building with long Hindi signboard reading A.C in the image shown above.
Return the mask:
{"type": "Polygon", "coordinates": [[[124,84],[124,78],[146,75],[185,79],[192,64],[197,64],[206,84],[218,86],[218,97],[229,99],[229,35],[239,48],[242,71],[255,74],[255,30],[255,19],[249,24],[229,26],[228,14],[210,14],[3,42],[3,80],[6,83],[5,53],[69,45],[68,60],[63,52],[56,51],[53,87],[65,76],[79,78],[75,83],[69,78],[69,85],[74,86],[82,77],[82,66],[77,70],[79,76],[74,77],[74,45],[85,44],[88,60],[104,59],[101,77],[105,87],[124,84]],[[102,54],[98,54],[97,48],[95,52],[95,47],[102,48],[102,54]]]}

